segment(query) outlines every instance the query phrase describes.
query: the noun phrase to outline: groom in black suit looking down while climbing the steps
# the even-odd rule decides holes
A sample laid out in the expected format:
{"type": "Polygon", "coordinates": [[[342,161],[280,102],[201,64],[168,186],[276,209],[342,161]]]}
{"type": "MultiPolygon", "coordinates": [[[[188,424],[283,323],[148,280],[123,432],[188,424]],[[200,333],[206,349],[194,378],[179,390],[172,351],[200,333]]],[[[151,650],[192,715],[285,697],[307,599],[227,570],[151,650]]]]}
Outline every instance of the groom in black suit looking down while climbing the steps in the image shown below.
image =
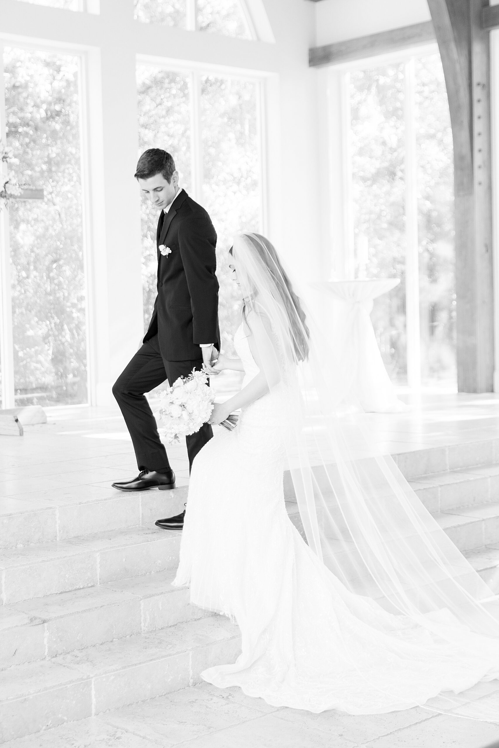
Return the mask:
{"type": "MultiPolygon", "coordinates": [[[[208,213],[179,186],[170,153],[150,148],[138,159],[135,179],[160,210],[156,246],[158,295],[144,344],[114,383],[113,394],[132,437],[138,476],[115,482],[120,491],[175,488],[175,474],[159,439],[156,420],[144,393],[168,378],[169,384],[193,369],[208,367],[220,349],[216,233],[208,213]],[[218,350],[217,350],[218,349],[218,350]]],[[[189,469],[209,439],[205,423],[186,437],[189,469]]],[[[183,527],[182,512],[158,520],[167,529],[183,527]]]]}

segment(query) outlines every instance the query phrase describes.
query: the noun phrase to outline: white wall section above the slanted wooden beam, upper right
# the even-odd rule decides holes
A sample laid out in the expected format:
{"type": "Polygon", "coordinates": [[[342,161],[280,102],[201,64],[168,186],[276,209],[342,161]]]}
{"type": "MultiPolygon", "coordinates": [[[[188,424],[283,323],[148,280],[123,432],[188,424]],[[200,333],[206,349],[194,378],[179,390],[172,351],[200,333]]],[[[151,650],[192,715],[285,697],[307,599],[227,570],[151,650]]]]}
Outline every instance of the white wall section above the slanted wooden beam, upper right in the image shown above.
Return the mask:
{"type": "Polygon", "coordinates": [[[321,0],[316,4],[316,46],[429,20],[426,0],[321,0]]]}

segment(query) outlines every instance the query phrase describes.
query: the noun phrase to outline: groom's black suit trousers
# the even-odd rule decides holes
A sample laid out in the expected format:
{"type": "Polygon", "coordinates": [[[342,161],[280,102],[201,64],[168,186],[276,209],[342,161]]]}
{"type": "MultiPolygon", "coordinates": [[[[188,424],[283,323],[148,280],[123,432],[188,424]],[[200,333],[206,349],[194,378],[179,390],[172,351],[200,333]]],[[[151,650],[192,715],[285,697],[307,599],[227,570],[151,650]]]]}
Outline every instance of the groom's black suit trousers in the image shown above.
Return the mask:
{"type": "MultiPolygon", "coordinates": [[[[165,470],[170,467],[165,447],[159,438],[156,419],[144,393],[158,387],[165,379],[171,385],[180,376],[189,376],[193,369],[200,370],[202,367],[202,355],[194,361],[165,361],[159,350],[158,336],[155,335],[135,353],[117,378],[113,395],[132,437],[139,470],[165,470]]],[[[205,423],[197,433],[186,436],[189,469],[201,447],[212,435],[212,427],[205,423]]]]}

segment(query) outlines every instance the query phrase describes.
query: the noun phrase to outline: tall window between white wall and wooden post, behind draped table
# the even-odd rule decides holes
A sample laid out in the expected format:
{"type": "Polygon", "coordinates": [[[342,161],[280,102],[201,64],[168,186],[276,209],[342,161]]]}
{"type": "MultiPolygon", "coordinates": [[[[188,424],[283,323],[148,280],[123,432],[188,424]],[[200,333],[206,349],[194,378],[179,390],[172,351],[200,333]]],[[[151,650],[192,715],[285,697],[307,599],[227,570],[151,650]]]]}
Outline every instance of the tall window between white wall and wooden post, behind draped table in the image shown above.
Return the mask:
{"type": "Polygon", "coordinates": [[[401,279],[371,314],[385,364],[399,384],[453,387],[453,142],[440,56],[352,70],[346,90],[352,272],[401,279]]]}

